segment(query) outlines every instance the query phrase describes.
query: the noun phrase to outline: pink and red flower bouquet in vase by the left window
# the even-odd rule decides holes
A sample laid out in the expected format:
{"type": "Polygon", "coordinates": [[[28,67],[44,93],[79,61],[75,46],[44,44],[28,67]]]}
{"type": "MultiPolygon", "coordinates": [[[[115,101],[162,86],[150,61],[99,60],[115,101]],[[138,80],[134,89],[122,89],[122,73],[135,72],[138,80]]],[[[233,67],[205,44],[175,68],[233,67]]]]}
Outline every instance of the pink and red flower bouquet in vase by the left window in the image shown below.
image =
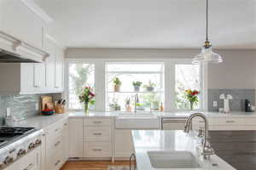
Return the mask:
{"type": "Polygon", "coordinates": [[[95,104],[94,97],[96,94],[93,93],[93,89],[90,87],[85,87],[82,91],[82,94],[79,95],[80,103],[84,102],[84,112],[88,113],[89,106],[95,104]]]}

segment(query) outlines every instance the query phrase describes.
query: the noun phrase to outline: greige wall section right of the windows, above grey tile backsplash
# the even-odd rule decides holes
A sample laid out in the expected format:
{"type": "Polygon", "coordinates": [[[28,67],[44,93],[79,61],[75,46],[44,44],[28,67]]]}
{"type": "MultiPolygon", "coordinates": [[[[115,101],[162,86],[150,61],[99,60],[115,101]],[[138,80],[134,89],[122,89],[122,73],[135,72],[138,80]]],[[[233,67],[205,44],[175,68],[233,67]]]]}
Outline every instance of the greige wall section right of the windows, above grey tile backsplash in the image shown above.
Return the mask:
{"type": "Polygon", "coordinates": [[[256,50],[218,50],[224,62],[208,65],[208,88],[256,88],[256,50]]]}

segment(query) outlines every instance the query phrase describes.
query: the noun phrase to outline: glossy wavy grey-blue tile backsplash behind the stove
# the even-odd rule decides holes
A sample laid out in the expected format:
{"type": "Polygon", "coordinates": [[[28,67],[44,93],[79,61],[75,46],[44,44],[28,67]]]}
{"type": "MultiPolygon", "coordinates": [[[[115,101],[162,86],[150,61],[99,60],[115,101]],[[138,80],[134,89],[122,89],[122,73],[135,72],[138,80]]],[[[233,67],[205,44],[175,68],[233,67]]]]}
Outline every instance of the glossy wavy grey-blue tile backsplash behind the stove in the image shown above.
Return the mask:
{"type": "MultiPolygon", "coordinates": [[[[36,105],[39,105],[41,95],[44,94],[0,95],[0,125],[3,125],[7,107],[10,108],[11,114],[15,116],[18,121],[22,121],[30,116],[38,115],[36,105]]],[[[61,96],[61,94],[45,95],[52,95],[53,99],[58,99],[61,96]]]]}

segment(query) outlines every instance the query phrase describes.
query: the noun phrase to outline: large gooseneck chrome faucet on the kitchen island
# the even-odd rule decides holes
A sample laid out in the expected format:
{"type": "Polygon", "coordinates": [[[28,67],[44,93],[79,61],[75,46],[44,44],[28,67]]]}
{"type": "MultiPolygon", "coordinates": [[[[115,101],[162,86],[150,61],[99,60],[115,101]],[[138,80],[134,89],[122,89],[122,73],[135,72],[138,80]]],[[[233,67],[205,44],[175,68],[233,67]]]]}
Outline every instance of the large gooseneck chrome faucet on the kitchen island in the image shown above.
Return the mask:
{"type": "Polygon", "coordinates": [[[214,150],[211,147],[210,142],[208,141],[208,131],[209,131],[209,123],[207,121],[207,116],[204,116],[202,113],[194,113],[189,116],[185,123],[184,132],[189,133],[191,121],[194,117],[199,116],[201,117],[205,122],[205,133],[204,133],[204,140],[202,143],[202,155],[204,156],[204,159],[210,159],[211,155],[214,155],[214,150]]]}

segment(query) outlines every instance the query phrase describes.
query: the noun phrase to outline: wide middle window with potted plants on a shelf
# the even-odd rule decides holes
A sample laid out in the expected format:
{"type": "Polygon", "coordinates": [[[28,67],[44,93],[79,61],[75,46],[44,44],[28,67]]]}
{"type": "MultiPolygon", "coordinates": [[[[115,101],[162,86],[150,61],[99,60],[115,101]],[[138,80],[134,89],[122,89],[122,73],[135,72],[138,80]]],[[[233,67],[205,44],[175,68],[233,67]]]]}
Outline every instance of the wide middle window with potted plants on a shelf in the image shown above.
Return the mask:
{"type": "Polygon", "coordinates": [[[164,104],[164,63],[108,63],[106,69],[107,111],[134,111],[136,95],[137,111],[157,110],[164,104]],[[116,78],[120,87],[114,86],[116,78]]]}

